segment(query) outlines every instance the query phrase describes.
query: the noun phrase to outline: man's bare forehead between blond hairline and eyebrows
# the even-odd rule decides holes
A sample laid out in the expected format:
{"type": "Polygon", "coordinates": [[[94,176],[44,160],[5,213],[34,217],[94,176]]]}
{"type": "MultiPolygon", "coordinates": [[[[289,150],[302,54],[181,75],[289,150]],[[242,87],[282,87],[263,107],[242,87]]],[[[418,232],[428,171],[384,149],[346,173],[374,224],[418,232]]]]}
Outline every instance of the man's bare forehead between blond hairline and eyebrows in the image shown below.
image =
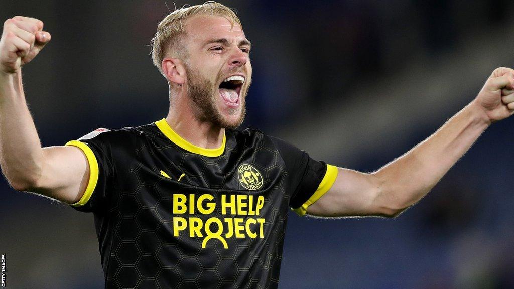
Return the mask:
{"type": "Polygon", "coordinates": [[[194,42],[202,42],[212,38],[228,38],[240,41],[246,39],[241,26],[232,23],[223,16],[196,15],[187,20],[186,32],[194,42]]]}

